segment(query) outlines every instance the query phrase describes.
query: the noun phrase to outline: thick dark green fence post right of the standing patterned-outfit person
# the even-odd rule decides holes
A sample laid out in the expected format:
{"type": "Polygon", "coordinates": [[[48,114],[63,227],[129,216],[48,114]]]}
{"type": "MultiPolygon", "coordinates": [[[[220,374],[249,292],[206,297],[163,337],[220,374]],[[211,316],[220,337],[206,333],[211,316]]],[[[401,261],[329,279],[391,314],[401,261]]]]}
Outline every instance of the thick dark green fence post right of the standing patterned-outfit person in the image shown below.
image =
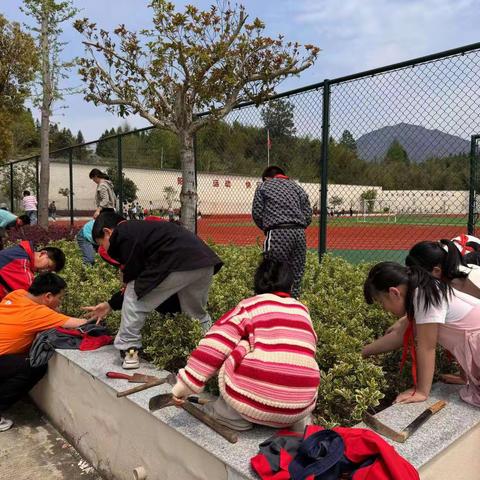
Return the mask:
{"type": "Polygon", "coordinates": [[[327,251],[327,188],[328,142],[330,139],[330,81],[323,82],[322,155],[320,160],[320,225],[318,229],[318,259],[321,262],[327,251]]]}

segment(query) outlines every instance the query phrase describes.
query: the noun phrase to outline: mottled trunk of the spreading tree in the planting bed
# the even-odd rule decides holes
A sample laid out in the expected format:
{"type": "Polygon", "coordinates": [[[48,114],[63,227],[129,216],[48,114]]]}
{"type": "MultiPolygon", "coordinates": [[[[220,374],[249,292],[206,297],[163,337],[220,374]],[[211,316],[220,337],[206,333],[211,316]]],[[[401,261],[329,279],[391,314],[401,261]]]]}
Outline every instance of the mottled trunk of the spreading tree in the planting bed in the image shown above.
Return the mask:
{"type": "Polygon", "coordinates": [[[185,228],[195,232],[197,215],[197,182],[195,176],[195,155],[193,135],[181,132],[180,159],[182,162],[182,192],[180,193],[181,222],[185,228]]]}

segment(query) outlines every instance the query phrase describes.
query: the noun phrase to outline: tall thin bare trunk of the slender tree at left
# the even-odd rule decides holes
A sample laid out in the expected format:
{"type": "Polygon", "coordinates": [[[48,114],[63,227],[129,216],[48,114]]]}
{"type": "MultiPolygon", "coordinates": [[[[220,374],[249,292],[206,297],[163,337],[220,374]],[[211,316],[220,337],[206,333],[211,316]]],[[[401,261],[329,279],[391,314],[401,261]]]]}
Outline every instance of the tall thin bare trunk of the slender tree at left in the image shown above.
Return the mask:
{"type": "Polygon", "coordinates": [[[40,125],[40,185],[38,195],[38,223],[48,227],[48,193],[50,187],[50,106],[52,103],[52,81],[50,71],[50,49],[48,45],[48,13],[43,7],[40,48],[42,55],[42,107],[40,125]]]}

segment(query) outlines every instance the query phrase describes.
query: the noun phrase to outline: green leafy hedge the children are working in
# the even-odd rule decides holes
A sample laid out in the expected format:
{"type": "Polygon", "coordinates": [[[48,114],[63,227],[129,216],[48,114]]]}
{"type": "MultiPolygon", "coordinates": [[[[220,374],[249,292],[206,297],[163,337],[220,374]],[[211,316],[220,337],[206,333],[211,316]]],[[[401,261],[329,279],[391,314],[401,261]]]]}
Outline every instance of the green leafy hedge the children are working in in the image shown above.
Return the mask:
{"type": "MultiPolygon", "coordinates": [[[[119,287],[113,267],[98,261],[84,267],[74,242],[56,242],[68,261],[62,275],[69,288],[63,310],[81,314],[81,306],[95,305],[109,298],[119,287]]],[[[209,312],[215,320],[240,300],[252,295],[253,273],[260,259],[255,247],[213,246],[225,265],[214,277],[209,295],[209,312]]],[[[363,280],[368,265],[351,265],[343,259],[309,253],[301,301],[310,309],[318,335],[317,361],[321,383],[315,414],[320,424],[352,425],[368,409],[388,404],[409,386],[409,376],[399,372],[399,352],[375,359],[363,359],[362,346],[381,335],[394,319],[363,300],[363,280]]],[[[119,314],[107,323],[118,328],[119,314]]],[[[159,368],[176,370],[184,365],[201,338],[198,322],[185,315],[162,319],[151,314],[143,332],[146,353],[159,368]]],[[[407,372],[408,373],[408,372],[407,372]]]]}

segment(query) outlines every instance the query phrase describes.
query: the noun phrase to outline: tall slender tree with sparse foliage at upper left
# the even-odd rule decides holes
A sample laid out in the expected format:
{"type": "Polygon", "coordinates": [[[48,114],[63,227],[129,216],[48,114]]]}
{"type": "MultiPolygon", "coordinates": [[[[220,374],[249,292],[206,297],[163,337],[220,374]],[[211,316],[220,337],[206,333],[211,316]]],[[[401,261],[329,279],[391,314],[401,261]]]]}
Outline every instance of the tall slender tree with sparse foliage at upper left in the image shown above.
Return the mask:
{"type": "Polygon", "coordinates": [[[60,59],[64,43],[60,41],[62,24],[71,19],[77,10],[71,0],[23,0],[23,11],[33,18],[31,28],[40,49],[41,124],[40,124],[40,188],[38,198],[38,223],[48,226],[48,194],[50,189],[50,117],[54,102],[63,98],[60,81],[65,77],[69,62],[60,59]]]}

